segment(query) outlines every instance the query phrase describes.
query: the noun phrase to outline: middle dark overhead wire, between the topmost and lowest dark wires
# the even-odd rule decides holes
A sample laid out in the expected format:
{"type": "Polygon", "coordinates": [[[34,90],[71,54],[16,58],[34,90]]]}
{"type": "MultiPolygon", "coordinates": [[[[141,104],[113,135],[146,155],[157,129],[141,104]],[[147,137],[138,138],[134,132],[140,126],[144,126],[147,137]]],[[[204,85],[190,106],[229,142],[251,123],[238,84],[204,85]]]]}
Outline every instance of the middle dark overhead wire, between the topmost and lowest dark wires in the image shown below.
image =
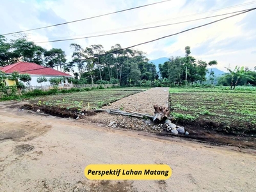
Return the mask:
{"type": "Polygon", "coordinates": [[[44,44],[44,43],[51,43],[51,42],[63,42],[63,41],[78,40],[78,39],[83,39],[83,38],[93,38],[93,37],[98,37],[98,36],[108,36],[108,35],[116,35],[116,34],[120,34],[120,33],[129,33],[129,32],[134,32],[134,31],[141,31],[141,30],[145,30],[145,29],[161,28],[161,27],[166,27],[166,26],[172,26],[172,25],[175,25],[175,24],[182,24],[182,23],[186,23],[186,22],[193,22],[193,21],[196,21],[196,20],[209,19],[209,18],[212,18],[212,17],[220,17],[220,16],[223,16],[223,15],[230,15],[230,14],[233,14],[233,13],[245,12],[247,10],[250,10],[250,9],[241,10],[241,11],[237,11],[237,12],[223,13],[223,14],[220,14],[220,15],[213,15],[213,16],[209,16],[209,17],[203,17],[203,18],[200,18],[200,19],[193,19],[193,20],[186,20],[186,21],[182,21],[182,22],[175,22],[175,23],[172,23],[172,24],[152,26],[152,27],[148,27],[148,28],[132,29],[132,30],[129,30],[129,31],[121,31],[121,32],[116,32],[116,33],[107,33],[107,34],[103,34],[103,35],[83,36],[83,37],[78,37],[78,38],[66,38],[66,39],[51,40],[51,41],[45,41],[45,42],[35,42],[35,44],[44,44]]]}

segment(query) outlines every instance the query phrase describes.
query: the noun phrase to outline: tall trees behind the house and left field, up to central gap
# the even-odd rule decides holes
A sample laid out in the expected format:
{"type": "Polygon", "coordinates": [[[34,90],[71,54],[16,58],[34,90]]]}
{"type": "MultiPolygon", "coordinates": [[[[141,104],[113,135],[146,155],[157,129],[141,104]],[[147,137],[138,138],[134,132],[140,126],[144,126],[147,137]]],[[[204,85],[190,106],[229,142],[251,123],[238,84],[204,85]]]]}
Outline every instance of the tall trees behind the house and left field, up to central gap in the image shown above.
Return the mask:
{"type": "Polygon", "coordinates": [[[26,61],[45,67],[57,67],[63,72],[72,72],[74,83],[119,83],[121,85],[137,84],[141,80],[158,79],[156,65],[149,63],[145,52],[133,49],[122,49],[120,44],[113,45],[105,51],[102,45],[81,47],[70,44],[72,61],[67,61],[65,51],[52,48],[46,50],[26,36],[8,41],[0,36],[0,66],[4,67],[26,61]],[[104,54],[99,56],[99,54],[104,54]],[[78,72],[75,72],[77,68],[78,72]]]}

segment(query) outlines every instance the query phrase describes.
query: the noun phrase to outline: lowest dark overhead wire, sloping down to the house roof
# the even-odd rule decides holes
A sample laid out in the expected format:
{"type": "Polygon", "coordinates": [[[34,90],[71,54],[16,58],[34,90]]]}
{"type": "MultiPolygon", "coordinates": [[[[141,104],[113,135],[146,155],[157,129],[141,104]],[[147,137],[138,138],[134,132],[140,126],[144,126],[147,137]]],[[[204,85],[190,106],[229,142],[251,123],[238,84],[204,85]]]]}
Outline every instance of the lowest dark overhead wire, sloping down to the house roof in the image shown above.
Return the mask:
{"type": "MultiPolygon", "coordinates": [[[[214,20],[214,21],[212,21],[212,22],[208,22],[207,24],[203,24],[203,25],[200,25],[200,26],[196,26],[195,28],[189,28],[189,29],[186,29],[186,30],[184,30],[184,31],[180,31],[179,33],[173,33],[172,35],[162,36],[162,37],[160,37],[160,38],[156,38],[156,39],[150,40],[150,41],[148,41],[148,42],[143,42],[143,43],[141,43],[141,44],[132,45],[132,46],[130,46],[130,47],[126,47],[126,48],[123,48],[123,49],[118,49],[118,50],[116,50],[116,51],[108,52],[108,53],[105,53],[105,54],[98,54],[98,55],[96,55],[96,56],[92,56],[92,57],[90,57],[90,58],[84,58],[83,60],[77,60],[77,61],[90,60],[90,59],[93,59],[93,58],[97,58],[97,57],[99,57],[99,56],[104,56],[104,55],[106,55],[106,54],[111,54],[111,53],[115,53],[115,52],[118,52],[118,51],[124,51],[125,49],[131,49],[132,47],[137,47],[137,46],[139,46],[139,45],[143,45],[143,44],[148,44],[148,43],[151,43],[151,42],[155,42],[155,41],[157,41],[157,40],[161,40],[161,39],[163,39],[163,38],[167,38],[167,37],[170,37],[170,36],[179,35],[179,34],[181,34],[181,33],[185,33],[185,32],[187,32],[187,31],[191,31],[191,30],[193,30],[193,29],[202,28],[202,27],[204,27],[204,26],[208,26],[208,25],[210,25],[210,24],[214,24],[214,23],[216,23],[216,22],[220,22],[221,20],[225,20],[225,19],[228,19],[228,18],[231,18],[231,17],[235,17],[235,16],[241,15],[241,14],[243,14],[243,13],[252,12],[253,10],[256,10],[256,8],[252,8],[252,9],[250,9],[250,10],[246,10],[245,12],[237,13],[237,14],[235,14],[235,15],[230,15],[230,16],[224,17],[224,18],[222,18],[222,19],[214,20]]],[[[74,62],[71,61],[71,62],[68,62],[68,63],[62,63],[62,64],[58,64],[58,65],[67,65],[67,64],[70,64],[70,63],[74,63],[74,62]]],[[[56,66],[58,66],[58,65],[54,65],[53,67],[56,67],[56,66]]],[[[42,68],[52,68],[52,67],[42,67],[42,68]]],[[[20,71],[20,72],[29,72],[29,71],[33,71],[33,70],[40,70],[40,69],[42,69],[42,68],[36,68],[36,69],[31,69],[31,70],[23,70],[23,71],[20,71]]]]}

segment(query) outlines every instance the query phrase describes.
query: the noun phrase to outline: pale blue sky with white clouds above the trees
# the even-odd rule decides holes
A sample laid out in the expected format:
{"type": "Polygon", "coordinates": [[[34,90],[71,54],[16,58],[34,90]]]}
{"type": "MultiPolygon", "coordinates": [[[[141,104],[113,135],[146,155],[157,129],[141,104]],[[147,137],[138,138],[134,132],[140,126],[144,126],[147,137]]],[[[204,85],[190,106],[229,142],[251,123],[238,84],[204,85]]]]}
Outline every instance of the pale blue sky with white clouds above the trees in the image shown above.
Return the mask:
{"type": "MultiPolygon", "coordinates": [[[[160,0],[159,0],[160,1],[160,0]]],[[[31,28],[39,28],[60,22],[83,19],[109,12],[115,12],[133,6],[155,3],[156,0],[9,0],[1,2],[0,33],[8,33],[31,28]]],[[[173,0],[167,3],[156,4],[145,8],[131,10],[84,20],[54,28],[30,31],[29,39],[34,42],[55,40],[58,38],[76,38],[81,36],[112,33],[129,29],[144,28],[173,22],[182,22],[201,17],[209,17],[221,13],[236,12],[256,7],[256,1],[223,1],[223,0],[173,0]],[[252,2],[252,3],[250,3],[252,2]],[[247,4],[246,4],[247,3],[247,4]],[[241,6],[236,6],[241,5],[241,6]],[[231,8],[227,8],[233,6],[231,8]],[[226,9],[223,9],[226,8],[226,9]],[[219,10],[223,9],[223,10],[219,10]],[[218,10],[218,11],[214,11],[218,10]],[[206,12],[206,13],[205,13],[206,12]]],[[[214,19],[198,20],[184,24],[155,28],[133,33],[124,33],[113,36],[102,36],[68,42],[38,44],[46,49],[61,48],[68,60],[72,54],[69,45],[80,44],[83,47],[92,44],[101,44],[108,50],[115,44],[129,47],[141,42],[147,42],[161,36],[170,35],[179,31],[193,28],[214,19]]],[[[217,60],[217,67],[225,70],[246,66],[254,68],[256,65],[256,11],[233,17],[232,19],[195,29],[157,42],[134,47],[147,53],[150,60],[161,57],[184,56],[184,47],[191,47],[191,55],[198,60],[217,60]]],[[[12,35],[6,36],[13,38],[12,35]]]]}

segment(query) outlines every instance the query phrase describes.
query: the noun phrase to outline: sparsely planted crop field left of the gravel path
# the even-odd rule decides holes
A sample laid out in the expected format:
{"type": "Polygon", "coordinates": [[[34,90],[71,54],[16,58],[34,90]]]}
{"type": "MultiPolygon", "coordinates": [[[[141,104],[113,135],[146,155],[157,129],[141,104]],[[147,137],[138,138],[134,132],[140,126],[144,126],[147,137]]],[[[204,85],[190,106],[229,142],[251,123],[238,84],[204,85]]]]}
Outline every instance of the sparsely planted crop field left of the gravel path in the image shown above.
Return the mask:
{"type": "Polygon", "coordinates": [[[58,106],[66,109],[99,109],[123,97],[145,90],[147,90],[147,88],[109,88],[86,92],[62,93],[36,97],[35,99],[29,100],[29,103],[37,104],[38,106],[58,106]]]}

